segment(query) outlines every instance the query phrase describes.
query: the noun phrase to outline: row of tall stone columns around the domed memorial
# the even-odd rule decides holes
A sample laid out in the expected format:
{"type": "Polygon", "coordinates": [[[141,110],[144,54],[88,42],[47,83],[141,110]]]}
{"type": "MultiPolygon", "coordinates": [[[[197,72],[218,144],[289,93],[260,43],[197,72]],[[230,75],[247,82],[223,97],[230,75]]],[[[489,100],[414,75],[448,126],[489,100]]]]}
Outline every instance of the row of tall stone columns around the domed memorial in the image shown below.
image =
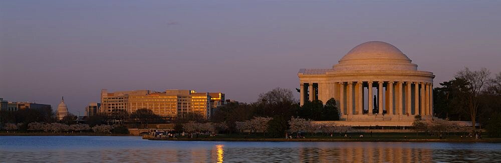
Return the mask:
{"type": "Polygon", "coordinates": [[[329,98],[335,98],[342,115],[375,114],[383,113],[383,110],[390,115],[432,115],[432,88],[431,82],[422,81],[308,82],[301,83],[300,100],[303,105],[306,100],[320,99],[325,103],[329,98]],[[376,92],[373,92],[373,87],[376,87],[376,92]],[[368,89],[367,98],[365,89],[368,89]],[[376,101],[373,101],[374,95],[376,101]],[[364,107],[365,102],[367,107],[364,107]],[[377,112],[373,108],[377,108],[377,112]]]}

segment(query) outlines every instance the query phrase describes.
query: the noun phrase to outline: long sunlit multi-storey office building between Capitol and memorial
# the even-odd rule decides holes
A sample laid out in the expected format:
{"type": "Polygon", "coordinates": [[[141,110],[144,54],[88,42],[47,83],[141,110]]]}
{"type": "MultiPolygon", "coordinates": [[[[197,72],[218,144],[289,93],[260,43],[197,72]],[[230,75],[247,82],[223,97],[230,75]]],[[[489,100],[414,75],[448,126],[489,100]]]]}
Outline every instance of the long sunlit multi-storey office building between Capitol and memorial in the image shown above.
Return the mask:
{"type": "MultiPolygon", "coordinates": [[[[217,101],[216,99],[214,101],[217,101]]],[[[217,104],[215,104],[217,105],[217,104]]],[[[165,118],[186,116],[190,113],[210,117],[211,96],[209,92],[195,90],[132,90],[108,92],[101,90],[101,109],[103,113],[126,111],[132,113],[140,108],[151,109],[165,118]]]]}

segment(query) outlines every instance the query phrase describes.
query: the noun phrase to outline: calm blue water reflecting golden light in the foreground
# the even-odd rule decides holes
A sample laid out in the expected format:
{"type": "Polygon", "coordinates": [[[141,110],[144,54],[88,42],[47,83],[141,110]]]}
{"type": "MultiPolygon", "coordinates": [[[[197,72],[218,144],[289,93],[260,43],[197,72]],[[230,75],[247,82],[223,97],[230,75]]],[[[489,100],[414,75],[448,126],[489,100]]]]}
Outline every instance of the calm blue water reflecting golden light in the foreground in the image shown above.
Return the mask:
{"type": "Polygon", "coordinates": [[[499,162],[501,143],[153,141],[0,136],[0,162],[499,162]]]}

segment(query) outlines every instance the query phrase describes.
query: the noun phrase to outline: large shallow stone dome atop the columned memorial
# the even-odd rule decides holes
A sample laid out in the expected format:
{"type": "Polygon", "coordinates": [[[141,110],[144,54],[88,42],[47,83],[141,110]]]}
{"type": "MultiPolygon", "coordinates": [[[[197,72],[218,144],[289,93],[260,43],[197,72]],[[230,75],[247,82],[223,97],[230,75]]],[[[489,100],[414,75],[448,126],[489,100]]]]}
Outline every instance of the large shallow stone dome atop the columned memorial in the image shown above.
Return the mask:
{"type": "Polygon", "coordinates": [[[334,70],[417,70],[400,49],[383,41],[368,41],[353,47],[333,66],[334,70]]]}

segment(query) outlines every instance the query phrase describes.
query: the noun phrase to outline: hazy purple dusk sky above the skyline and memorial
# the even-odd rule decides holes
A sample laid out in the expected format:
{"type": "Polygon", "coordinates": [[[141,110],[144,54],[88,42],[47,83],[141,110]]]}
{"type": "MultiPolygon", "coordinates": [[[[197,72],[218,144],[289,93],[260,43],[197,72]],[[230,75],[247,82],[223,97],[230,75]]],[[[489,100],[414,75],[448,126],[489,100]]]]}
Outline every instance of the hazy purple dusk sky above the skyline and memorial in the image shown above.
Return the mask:
{"type": "Polygon", "coordinates": [[[102,88],[252,102],[369,40],[400,48],[435,85],[464,66],[497,73],[501,1],[2,0],[0,97],[57,107],[65,96],[81,115],[102,88]]]}

